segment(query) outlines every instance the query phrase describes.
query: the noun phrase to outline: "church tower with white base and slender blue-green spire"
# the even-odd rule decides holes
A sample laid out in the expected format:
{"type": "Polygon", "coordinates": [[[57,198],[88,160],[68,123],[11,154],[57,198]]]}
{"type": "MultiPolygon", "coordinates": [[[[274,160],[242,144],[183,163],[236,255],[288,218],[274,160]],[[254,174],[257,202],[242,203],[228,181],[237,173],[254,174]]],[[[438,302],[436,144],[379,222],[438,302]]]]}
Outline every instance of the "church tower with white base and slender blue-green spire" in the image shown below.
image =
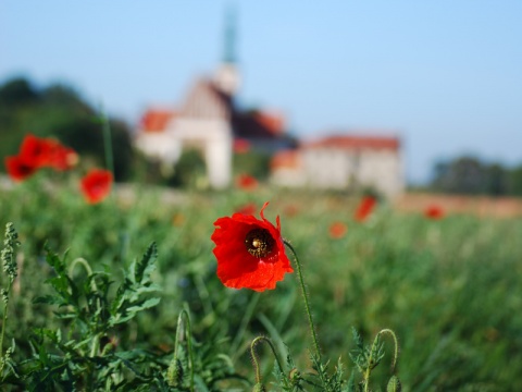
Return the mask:
{"type": "Polygon", "coordinates": [[[240,78],[235,53],[236,10],[228,9],[225,16],[223,59],[214,75],[215,85],[226,95],[233,97],[239,89],[240,78]]]}

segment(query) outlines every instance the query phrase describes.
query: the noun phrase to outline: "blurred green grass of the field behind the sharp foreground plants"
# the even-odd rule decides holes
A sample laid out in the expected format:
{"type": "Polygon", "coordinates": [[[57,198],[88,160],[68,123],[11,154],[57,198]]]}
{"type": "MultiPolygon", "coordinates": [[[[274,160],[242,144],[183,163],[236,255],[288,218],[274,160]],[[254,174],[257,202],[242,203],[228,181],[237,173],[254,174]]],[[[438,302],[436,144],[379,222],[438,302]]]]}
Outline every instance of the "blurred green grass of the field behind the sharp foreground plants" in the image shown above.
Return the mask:
{"type": "MultiPolygon", "coordinates": [[[[16,341],[14,360],[35,355],[29,336],[36,328],[65,331],[71,322],[57,319],[57,306],[33,302],[51,292],[46,280],[55,274],[45,261],[46,244],[60,257],[66,254],[67,267],[82,257],[120,282],[154,242],[151,280],[161,287],[161,302],[111,332],[116,353],[140,348],[164,366],[187,306],[203,359],[226,356],[234,372],[254,382],[249,345],[262,334],[283,358],[288,351],[301,371],[310,369],[312,343],[295,273],[264,293],[226,289],[215,275],[215,219],[247,204],[259,212],[268,200],[266,218],[281,216],[283,236],[299,254],[323,357],[332,368],[340,357],[346,379],[355,371],[352,328],[366,342],[389,328],[399,340],[403,391],[522,389],[520,218],[450,211],[428,220],[422,210],[382,203],[368,221],[357,222],[357,198],[270,187],[178,193],[127,186],[95,206],[74,186],[41,179],[1,191],[0,222],[13,222],[22,244],[5,332],[16,341]],[[347,226],[338,238],[330,232],[335,222],[347,226]]],[[[84,274],[80,267],[71,271],[79,281],[84,274]]],[[[375,391],[385,390],[389,378],[394,346],[384,342],[386,356],[372,375],[375,391]]],[[[268,350],[260,354],[264,383],[278,390],[271,387],[273,358],[268,350]]],[[[209,390],[252,388],[245,385],[226,380],[209,390]]]]}

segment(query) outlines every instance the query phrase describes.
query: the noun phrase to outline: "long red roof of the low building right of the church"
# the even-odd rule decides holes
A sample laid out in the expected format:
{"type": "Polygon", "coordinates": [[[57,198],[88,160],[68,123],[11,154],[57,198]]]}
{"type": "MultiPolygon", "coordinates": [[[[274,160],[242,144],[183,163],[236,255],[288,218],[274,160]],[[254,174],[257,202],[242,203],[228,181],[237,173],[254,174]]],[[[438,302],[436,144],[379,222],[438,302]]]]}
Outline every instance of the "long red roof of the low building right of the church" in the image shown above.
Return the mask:
{"type": "Polygon", "coordinates": [[[313,142],[304,143],[304,149],[336,148],[336,149],[388,149],[398,150],[400,140],[393,136],[364,136],[364,135],[334,135],[313,142]]]}

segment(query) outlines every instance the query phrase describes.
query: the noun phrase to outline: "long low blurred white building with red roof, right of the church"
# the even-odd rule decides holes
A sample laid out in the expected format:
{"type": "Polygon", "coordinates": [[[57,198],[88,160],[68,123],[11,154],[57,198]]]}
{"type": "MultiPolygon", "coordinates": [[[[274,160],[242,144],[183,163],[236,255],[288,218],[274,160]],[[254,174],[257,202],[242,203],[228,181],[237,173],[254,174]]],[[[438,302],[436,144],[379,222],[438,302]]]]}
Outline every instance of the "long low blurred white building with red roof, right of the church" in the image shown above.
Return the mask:
{"type": "Polygon", "coordinates": [[[400,140],[390,136],[344,134],[276,152],[272,181],[289,187],[361,191],[394,197],[405,189],[400,140]]]}

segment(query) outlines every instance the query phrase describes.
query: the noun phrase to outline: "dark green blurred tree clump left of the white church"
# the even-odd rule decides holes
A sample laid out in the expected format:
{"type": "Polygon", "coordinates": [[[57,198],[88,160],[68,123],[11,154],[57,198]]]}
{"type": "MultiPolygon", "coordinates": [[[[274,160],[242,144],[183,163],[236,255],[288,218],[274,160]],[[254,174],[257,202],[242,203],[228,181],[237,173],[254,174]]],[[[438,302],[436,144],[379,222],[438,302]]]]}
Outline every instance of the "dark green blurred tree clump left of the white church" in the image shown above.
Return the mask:
{"type": "MultiPolygon", "coordinates": [[[[74,148],[83,166],[107,167],[99,113],[73,88],[53,84],[37,89],[24,78],[0,86],[0,157],[17,154],[28,133],[52,136],[74,148]]],[[[109,120],[116,181],[132,175],[134,151],[125,123],[109,120]]],[[[1,170],[4,170],[3,164],[1,170]]]]}

